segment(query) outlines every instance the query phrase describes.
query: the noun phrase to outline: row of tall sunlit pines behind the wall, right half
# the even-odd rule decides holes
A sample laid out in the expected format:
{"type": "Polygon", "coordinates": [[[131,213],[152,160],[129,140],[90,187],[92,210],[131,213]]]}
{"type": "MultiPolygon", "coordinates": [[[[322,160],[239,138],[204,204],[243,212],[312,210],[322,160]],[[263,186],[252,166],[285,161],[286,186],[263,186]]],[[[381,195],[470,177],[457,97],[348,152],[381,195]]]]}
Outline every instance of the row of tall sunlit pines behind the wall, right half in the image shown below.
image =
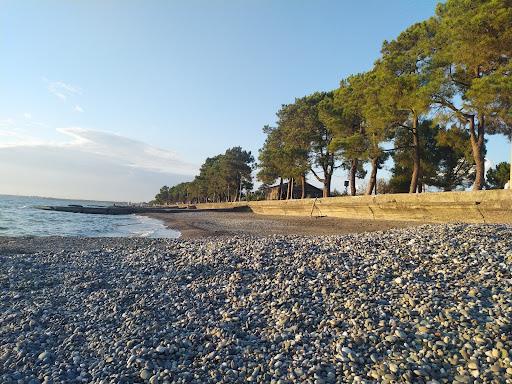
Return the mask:
{"type": "Polygon", "coordinates": [[[331,193],[337,168],[350,192],[371,165],[393,158],[393,192],[484,187],[487,134],[512,127],[512,0],[448,0],[435,16],[385,41],[365,73],[332,92],[283,105],[259,153],[258,178],[301,180],[311,173],[331,193]]]}

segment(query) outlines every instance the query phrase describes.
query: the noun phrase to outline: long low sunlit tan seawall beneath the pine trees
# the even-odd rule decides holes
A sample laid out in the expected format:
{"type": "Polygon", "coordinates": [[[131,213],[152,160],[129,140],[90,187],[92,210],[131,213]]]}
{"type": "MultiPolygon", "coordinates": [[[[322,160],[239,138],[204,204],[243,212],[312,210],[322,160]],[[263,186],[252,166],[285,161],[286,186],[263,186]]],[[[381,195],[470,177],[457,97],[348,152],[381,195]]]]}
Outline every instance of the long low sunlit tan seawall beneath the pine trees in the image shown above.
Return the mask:
{"type": "Polygon", "coordinates": [[[329,216],[423,222],[512,223],[512,191],[439,192],[321,199],[197,204],[197,208],[248,206],[262,215],[329,216]]]}

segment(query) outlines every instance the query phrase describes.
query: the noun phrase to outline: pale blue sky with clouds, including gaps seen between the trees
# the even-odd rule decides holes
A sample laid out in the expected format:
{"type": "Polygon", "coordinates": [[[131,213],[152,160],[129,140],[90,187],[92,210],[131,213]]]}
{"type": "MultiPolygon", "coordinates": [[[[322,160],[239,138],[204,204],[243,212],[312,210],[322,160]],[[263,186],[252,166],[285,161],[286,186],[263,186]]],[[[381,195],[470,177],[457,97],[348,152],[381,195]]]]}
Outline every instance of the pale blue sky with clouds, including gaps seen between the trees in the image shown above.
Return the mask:
{"type": "MultiPolygon", "coordinates": [[[[0,193],[148,201],[227,148],[257,155],[282,104],[370,69],[435,4],[0,0],[0,193]]],[[[509,146],[490,137],[488,164],[509,146]]]]}

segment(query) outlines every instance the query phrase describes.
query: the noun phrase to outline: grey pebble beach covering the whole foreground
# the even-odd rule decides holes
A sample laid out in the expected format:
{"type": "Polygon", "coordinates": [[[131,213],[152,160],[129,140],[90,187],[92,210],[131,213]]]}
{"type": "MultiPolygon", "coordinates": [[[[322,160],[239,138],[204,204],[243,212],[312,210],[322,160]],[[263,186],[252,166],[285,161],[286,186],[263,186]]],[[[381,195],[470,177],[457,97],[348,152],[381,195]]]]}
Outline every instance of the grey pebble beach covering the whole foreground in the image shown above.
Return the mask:
{"type": "Polygon", "coordinates": [[[0,238],[1,383],[512,382],[512,227],[0,238]]]}

